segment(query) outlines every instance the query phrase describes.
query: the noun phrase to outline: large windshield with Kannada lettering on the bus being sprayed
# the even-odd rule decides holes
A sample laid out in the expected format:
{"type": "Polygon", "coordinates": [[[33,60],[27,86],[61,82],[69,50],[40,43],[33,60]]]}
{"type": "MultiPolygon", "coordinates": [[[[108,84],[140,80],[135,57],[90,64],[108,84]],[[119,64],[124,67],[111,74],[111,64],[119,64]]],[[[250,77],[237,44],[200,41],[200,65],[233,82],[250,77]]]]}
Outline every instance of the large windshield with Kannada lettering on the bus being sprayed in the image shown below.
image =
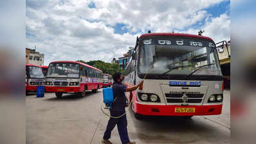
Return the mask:
{"type": "Polygon", "coordinates": [[[215,45],[206,40],[144,39],[139,63],[139,71],[144,74],[188,76],[193,72],[192,75],[222,76],[215,45]]]}

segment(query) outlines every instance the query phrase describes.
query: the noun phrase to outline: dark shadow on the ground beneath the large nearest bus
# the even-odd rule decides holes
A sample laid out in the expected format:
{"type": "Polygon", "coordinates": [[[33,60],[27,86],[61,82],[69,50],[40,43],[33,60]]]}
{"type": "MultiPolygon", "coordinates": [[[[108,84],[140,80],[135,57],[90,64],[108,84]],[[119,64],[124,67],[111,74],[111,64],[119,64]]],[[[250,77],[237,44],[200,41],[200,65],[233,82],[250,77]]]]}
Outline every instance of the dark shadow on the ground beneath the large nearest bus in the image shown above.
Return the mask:
{"type": "Polygon", "coordinates": [[[201,116],[143,116],[142,120],[137,120],[132,109],[127,115],[132,117],[130,120],[136,129],[129,132],[129,136],[144,143],[197,143],[201,136],[209,139],[212,136],[223,137],[218,127],[209,125],[201,116]]]}

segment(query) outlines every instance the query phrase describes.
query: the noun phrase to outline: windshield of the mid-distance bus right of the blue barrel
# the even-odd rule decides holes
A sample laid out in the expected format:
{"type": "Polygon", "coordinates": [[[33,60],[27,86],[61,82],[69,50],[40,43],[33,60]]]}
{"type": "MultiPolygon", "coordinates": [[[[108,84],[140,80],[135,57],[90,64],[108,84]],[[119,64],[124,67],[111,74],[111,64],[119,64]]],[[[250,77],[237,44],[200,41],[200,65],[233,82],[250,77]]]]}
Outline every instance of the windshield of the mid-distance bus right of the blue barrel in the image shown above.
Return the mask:
{"type": "Polygon", "coordinates": [[[46,77],[79,77],[79,65],[76,63],[51,63],[46,77]]]}

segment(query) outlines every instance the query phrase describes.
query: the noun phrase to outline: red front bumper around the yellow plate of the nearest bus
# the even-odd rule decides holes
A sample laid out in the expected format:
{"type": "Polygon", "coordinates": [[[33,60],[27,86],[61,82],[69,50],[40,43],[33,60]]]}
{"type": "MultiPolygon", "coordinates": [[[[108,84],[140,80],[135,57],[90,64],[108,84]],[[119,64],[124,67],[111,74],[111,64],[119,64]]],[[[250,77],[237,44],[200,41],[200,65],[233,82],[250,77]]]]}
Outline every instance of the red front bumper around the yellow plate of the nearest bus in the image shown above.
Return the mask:
{"type": "Polygon", "coordinates": [[[180,105],[149,105],[134,104],[134,112],[140,115],[156,116],[193,116],[193,115],[220,115],[223,104],[205,106],[180,106],[180,105]],[[178,113],[175,108],[194,108],[193,113],[178,113]]]}

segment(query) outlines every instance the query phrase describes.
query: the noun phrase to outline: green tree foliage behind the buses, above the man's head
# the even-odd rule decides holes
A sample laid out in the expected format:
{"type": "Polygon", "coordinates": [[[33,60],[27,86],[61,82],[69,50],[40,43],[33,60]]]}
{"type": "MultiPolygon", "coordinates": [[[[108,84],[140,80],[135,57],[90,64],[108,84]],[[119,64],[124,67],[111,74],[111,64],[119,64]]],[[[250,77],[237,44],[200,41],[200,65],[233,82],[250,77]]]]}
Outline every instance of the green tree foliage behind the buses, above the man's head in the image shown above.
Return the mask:
{"type": "Polygon", "coordinates": [[[114,72],[121,72],[123,74],[124,70],[119,67],[117,63],[105,63],[104,61],[96,60],[96,61],[83,61],[83,60],[77,60],[80,63],[86,63],[87,65],[91,65],[93,67],[96,67],[104,74],[110,74],[113,75],[114,72]]]}

